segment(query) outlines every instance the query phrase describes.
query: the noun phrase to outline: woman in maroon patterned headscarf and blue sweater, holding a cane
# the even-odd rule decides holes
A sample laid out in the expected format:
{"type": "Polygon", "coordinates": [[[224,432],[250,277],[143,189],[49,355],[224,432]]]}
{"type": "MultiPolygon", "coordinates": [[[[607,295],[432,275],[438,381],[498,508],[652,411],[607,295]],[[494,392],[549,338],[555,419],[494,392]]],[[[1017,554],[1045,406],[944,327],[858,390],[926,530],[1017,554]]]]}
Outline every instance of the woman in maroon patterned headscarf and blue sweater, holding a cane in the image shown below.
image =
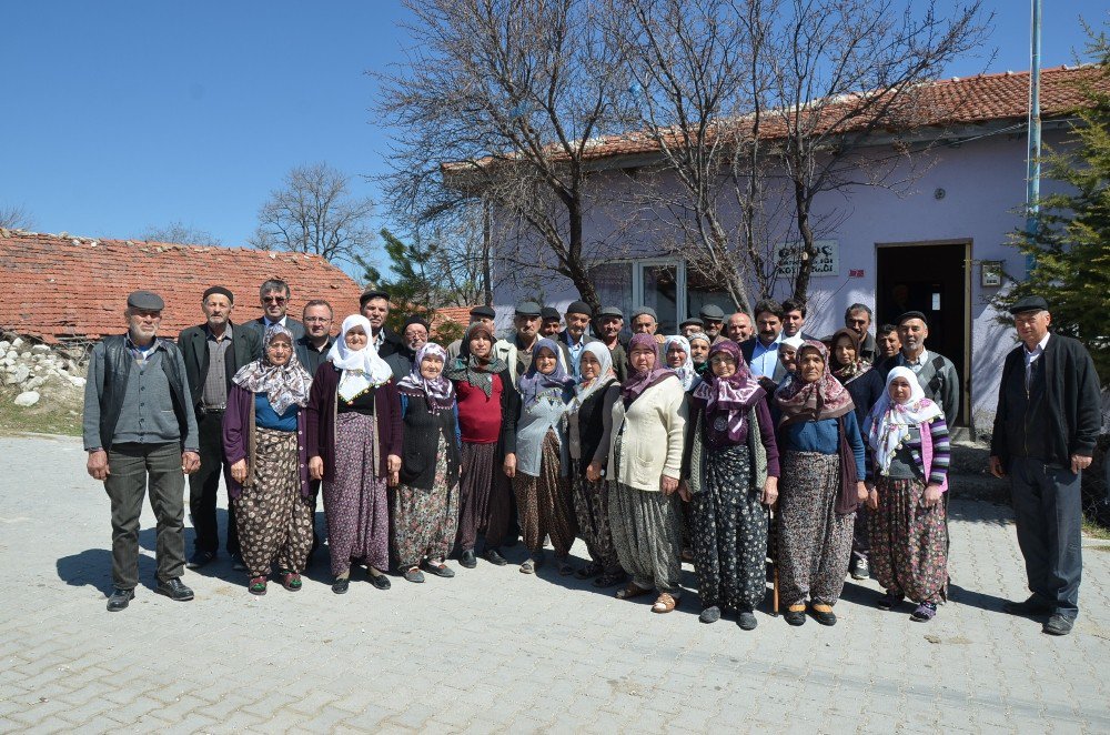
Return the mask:
{"type": "Polygon", "coordinates": [[[786,622],[810,612],[836,625],[833,605],[844,590],[856,507],[866,500],[864,442],[851,395],[833,376],[828,350],[806,340],[795,379],[775,392],[783,485],[779,492],[779,598],[786,622]]]}

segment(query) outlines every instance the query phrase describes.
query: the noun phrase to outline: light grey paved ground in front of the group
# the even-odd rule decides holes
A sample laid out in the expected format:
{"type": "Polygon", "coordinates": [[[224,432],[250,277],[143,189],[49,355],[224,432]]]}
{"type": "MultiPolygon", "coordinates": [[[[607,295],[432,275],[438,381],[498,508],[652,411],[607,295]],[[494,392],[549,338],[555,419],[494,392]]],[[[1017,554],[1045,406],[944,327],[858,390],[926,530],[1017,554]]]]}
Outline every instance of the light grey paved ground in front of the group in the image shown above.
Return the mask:
{"type": "Polygon", "coordinates": [[[108,500],[80,442],[0,456],[0,732],[1110,732],[1110,542],[1084,544],[1083,614],[1053,638],[1000,612],[1022,573],[988,503],[953,503],[953,602],[927,625],[876,610],[874,583],[849,582],[834,628],[759,613],[744,633],[699,624],[693,592],[653,615],[485,563],[344,597],[320,564],[255,598],[221,557],[173,603],[150,588],[149,511],[144,586],[109,614],[108,500]]]}

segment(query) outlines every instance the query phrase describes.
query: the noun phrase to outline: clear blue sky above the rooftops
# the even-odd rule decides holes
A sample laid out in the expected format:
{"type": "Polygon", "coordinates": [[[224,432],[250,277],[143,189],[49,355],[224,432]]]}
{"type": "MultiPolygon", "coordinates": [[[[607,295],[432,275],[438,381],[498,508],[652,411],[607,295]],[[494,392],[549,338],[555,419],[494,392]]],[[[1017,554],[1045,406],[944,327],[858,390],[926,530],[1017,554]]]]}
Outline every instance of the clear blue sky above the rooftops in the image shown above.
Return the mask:
{"type": "MultiPolygon", "coordinates": [[[[1043,64],[1070,63],[1078,17],[1101,22],[1104,2],[1046,4],[1043,64]]],[[[988,71],[1027,69],[1028,2],[986,6],[988,71]]],[[[181,221],[241,245],[294,165],[326,161],[374,197],[363,177],[385,170],[389,138],[365,72],[403,60],[406,16],[393,0],[6,2],[0,208],[22,205],[42,232],[181,221]]]]}

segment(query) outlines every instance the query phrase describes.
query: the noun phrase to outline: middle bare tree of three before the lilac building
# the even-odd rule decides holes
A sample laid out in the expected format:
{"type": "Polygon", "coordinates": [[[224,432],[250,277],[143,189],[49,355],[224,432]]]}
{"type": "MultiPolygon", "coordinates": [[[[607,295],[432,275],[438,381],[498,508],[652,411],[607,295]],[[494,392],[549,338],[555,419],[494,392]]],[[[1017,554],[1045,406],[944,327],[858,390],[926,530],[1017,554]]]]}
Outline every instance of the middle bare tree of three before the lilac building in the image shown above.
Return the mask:
{"type": "Polygon", "coordinates": [[[766,197],[761,111],[768,91],[765,39],[777,2],[610,0],[608,36],[630,79],[629,124],[659,151],[677,191],[656,177],[643,200],[662,205],[682,235],[687,268],[720,283],[750,311],[774,289],[774,204],[766,197]]]}

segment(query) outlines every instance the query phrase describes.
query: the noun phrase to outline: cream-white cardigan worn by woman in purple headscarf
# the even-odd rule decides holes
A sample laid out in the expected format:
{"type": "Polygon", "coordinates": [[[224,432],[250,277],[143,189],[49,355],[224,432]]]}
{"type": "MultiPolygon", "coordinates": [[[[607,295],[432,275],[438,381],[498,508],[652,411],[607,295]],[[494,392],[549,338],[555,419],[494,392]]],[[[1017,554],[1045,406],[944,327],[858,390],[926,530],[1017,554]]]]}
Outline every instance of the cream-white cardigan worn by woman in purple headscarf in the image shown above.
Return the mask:
{"type": "Polygon", "coordinates": [[[664,475],[682,475],[686,393],[683,384],[669,375],[644,390],[626,409],[616,401],[609,413],[610,432],[608,479],[648,492],[659,492],[664,475]],[[616,454],[616,434],[620,454],[616,454]]]}

